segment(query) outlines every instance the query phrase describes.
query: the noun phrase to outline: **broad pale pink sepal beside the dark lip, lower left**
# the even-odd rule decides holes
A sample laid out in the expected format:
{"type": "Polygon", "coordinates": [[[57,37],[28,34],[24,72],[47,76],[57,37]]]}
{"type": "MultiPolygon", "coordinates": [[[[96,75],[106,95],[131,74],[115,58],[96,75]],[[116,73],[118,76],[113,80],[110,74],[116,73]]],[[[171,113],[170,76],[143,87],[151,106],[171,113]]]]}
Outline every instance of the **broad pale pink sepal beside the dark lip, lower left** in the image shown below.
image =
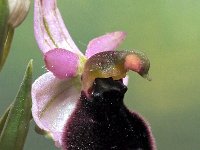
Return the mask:
{"type": "Polygon", "coordinates": [[[48,72],[32,85],[32,115],[36,124],[49,132],[61,146],[63,127],[80,97],[80,78],[59,80],[48,72]]]}

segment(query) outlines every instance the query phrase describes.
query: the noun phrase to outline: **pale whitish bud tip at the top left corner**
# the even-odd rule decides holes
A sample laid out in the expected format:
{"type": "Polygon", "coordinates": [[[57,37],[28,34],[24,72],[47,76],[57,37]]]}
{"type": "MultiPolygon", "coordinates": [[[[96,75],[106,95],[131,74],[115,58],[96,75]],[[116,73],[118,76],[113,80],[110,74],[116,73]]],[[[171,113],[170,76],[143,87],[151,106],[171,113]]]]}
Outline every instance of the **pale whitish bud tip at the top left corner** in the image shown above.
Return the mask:
{"type": "Polygon", "coordinates": [[[8,0],[9,19],[8,24],[17,27],[28,14],[30,0],[8,0]]]}

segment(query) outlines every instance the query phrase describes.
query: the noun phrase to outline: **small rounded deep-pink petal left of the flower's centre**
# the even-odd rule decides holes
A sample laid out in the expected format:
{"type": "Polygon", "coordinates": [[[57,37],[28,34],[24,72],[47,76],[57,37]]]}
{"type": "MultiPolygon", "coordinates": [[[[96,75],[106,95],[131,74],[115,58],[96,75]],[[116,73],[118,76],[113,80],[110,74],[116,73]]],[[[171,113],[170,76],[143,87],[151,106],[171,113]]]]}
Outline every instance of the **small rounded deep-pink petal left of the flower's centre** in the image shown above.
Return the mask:
{"type": "Polygon", "coordinates": [[[77,74],[79,57],[75,53],[56,48],[45,53],[44,60],[47,69],[60,79],[77,74]]]}

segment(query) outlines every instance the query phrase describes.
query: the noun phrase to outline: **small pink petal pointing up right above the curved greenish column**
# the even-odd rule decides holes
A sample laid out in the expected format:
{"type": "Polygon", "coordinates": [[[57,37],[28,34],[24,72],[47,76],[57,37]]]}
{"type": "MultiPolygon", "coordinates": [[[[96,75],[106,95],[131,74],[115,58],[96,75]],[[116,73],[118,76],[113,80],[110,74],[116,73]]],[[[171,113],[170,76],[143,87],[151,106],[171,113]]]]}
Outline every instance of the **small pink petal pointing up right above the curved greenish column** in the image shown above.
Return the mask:
{"type": "Polygon", "coordinates": [[[89,58],[99,52],[115,50],[119,44],[122,43],[125,37],[126,33],[121,31],[97,37],[89,42],[85,55],[89,58]]]}

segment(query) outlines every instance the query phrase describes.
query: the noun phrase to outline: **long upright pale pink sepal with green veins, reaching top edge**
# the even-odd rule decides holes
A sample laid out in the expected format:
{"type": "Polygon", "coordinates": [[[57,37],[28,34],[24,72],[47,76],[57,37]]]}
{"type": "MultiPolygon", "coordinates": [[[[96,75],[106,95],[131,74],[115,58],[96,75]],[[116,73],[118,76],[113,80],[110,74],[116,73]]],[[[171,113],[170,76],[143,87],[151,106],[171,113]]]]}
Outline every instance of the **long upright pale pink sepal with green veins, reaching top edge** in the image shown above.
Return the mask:
{"type": "Polygon", "coordinates": [[[38,46],[43,53],[63,48],[82,55],[65,27],[56,2],[35,0],[34,32],[38,46]]]}

